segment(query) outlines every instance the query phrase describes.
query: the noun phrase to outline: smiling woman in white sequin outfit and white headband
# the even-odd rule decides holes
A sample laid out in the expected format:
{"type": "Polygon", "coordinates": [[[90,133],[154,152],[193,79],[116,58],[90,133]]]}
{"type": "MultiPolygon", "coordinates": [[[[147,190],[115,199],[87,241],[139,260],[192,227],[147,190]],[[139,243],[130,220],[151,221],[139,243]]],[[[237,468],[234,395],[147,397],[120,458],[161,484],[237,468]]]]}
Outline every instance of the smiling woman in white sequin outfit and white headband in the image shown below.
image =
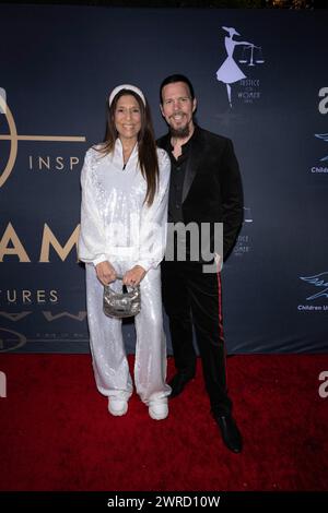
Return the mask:
{"type": "Polygon", "coordinates": [[[108,99],[105,142],[86,152],[81,175],[79,258],[86,269],[86,303],[93,369],[112,415],[125,415],[132,394],[121,320],[103,312],[103,285],[140,284],[134,318],[134,383],[154,419],[167,417],[166,341],[161,269],[166,244],[169,158],[156,148],[150,109],[129,84],[108,99]]]}

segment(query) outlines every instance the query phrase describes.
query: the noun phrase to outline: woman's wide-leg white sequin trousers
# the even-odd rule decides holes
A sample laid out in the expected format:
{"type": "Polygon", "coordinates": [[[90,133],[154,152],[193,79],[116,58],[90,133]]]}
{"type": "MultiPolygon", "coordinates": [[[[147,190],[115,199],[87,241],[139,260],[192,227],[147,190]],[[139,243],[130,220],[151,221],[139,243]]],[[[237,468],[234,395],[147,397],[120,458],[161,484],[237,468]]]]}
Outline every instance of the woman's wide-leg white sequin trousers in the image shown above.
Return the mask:
{"type": "MultiPolygon", "coordinates": [[[[133,264],[110,262],[118,274],[133,264]]],[[[132,394],[121,320],[103,312],[104,287],[93,264],[86,264],[86,305],[93,370],[98,391],[110,397],[128,399],[132,394]]],[[[121,282],[110,285],[119,289],[121,282]]],[[[134,318],[137,343],[134,383],[141,401],[165,401],[171,387],[166,380],[166,338],[163,330],[161,269],[149,270],[140,284],[141,310],[134,318]]]]}

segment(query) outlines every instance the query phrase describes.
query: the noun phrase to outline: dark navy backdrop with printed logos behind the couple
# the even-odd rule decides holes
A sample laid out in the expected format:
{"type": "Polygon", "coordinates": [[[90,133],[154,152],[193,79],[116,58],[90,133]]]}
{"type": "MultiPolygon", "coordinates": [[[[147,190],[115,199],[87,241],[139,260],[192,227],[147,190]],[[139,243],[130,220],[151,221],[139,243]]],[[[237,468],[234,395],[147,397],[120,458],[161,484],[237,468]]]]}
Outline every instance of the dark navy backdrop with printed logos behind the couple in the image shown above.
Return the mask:
{"type": "MultiPolygon", "coordinates": [[[[328,13],[2,5],[0,19],[0,351],[89,351],[84,154],[120,83],[143,90],[163,134],[172,73],[190,77],[198,123],[231,138],[241,165],[229,353],[326,351],[328,13]]],[[[133,323],[124,334],[133,353],[133,323]]]]}

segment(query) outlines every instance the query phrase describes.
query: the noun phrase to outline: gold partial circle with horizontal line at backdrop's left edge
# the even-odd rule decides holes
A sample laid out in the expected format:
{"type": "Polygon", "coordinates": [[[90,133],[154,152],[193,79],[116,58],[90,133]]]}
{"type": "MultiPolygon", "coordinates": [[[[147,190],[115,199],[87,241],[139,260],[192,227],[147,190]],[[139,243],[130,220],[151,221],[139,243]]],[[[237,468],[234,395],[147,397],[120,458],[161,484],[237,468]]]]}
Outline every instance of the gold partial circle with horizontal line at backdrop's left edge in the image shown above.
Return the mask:
{"type": "MultiPolygon", "coordinates": [[[[1,172],[0,169],[0,188],[10,177],[17,156],[19,141],[50,141],[50,142],[85,142],[83,136],[70,135],[19,135],[13,115],[7,104],[5,91],[0,87],[0,116],[4,116],[9,133],[0,133],[0,141],[10,141],[9,157],[1,172]]],[[[0,119],[1,119],[0,118],[0,119]]],[[[0,124],[0,127],[2,123],[0,124]]]]}

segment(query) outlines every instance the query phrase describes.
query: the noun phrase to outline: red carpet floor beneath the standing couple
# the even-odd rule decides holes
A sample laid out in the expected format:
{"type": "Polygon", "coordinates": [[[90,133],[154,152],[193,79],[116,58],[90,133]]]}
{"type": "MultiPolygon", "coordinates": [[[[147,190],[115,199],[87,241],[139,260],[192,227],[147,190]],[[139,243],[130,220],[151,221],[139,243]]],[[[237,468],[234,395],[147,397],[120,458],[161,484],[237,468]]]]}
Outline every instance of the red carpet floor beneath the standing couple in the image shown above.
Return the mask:
{"type": "Polygon", "coordinates": [[[89,355],[2,355],[0,489],[327,490],[324,370],[327,355],[229,358],[245,440],[232,454],[210,417],[200,366],[169,417],[156,421],[136,395],[127,416],[112,417],[89,355]]]}

